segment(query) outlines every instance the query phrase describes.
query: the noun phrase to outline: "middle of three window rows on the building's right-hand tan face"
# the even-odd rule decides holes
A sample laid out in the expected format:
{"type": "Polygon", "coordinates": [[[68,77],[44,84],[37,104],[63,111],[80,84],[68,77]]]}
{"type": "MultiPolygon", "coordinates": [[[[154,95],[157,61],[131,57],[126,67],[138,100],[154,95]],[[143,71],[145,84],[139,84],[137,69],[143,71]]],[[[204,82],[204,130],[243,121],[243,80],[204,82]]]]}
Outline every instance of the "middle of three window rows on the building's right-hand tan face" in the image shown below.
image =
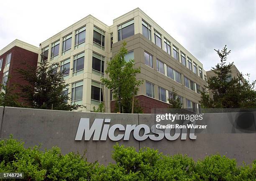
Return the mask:
{"type": "MultiPolygon", "coordinates": [[[[145,64],[147,66],[150,66],[152,69],[154,69],[153,56],[151,54],[148,54],[146,51],[144,51],[144,59],[145,59],[145,64]]],[[[164,63],[162,61],[160,61],[159,59],[156,59],[156,68],[157,68],[158,72],[165,75],[164,63]]],[[[166,71],[167,71],[166,75],[169,78],[182,84],[181,73],[179,73],[178,71],[176,71],[175,69],[173,69],[172,67],[170,67],[168,65],[166,65],[166,71]]],[[[192,82],[191,80],[190,80],[190,82],[189,82],[189,79],[186,76],[184,76],[184,85],[186,87],[188,87],[189,89],[196,91],[198,94],[200,94],[200,86],[198,84],[195,84],[195,82],[192,82]],[[190,86],[190,84],[191,84],[191,86],[190,86]],[[195,87],[197,89],[195,89],[195,87]]]]}

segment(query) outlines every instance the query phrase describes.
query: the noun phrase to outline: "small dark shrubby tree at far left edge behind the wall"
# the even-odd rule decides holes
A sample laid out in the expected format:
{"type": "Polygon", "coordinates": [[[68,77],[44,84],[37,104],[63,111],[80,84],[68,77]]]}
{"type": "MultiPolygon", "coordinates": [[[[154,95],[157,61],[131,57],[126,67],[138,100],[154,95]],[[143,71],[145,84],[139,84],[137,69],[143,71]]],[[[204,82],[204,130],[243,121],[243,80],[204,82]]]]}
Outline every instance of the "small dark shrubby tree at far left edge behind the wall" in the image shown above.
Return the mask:
{"type": "Polygon", "coordinates": [[[8,80],[6,84],[1,84],[1,91],[0,91],[0,106],[8,106],[8,107],[22,107],[19,102],[19,95],[15,92],[15,85],[8,86],[8,82],[10,80],[10,76],[8,76],[8,80]]]}

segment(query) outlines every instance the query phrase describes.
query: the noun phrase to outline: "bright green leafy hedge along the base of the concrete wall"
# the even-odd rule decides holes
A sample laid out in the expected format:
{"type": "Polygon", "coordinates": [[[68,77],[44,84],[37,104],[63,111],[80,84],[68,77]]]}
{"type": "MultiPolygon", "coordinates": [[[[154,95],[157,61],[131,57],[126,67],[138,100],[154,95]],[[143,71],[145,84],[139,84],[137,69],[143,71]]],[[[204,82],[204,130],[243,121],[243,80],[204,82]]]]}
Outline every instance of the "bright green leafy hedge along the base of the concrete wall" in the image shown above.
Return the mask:
{"type": "MultiPolygon", "coordinates": [[[[26,181],[255,181],[256,160],[237,166],[236,160],[212,155],[197,162],[183,155],[165,156],[151,148],[136,150],[116,144],[115,164],[89,163],[57,147],[24,148],[12,137],[0,141],[0,172],[23,172],[26,181]]],[[[10,180],[10,179],[8,179],[10,180]]]]}

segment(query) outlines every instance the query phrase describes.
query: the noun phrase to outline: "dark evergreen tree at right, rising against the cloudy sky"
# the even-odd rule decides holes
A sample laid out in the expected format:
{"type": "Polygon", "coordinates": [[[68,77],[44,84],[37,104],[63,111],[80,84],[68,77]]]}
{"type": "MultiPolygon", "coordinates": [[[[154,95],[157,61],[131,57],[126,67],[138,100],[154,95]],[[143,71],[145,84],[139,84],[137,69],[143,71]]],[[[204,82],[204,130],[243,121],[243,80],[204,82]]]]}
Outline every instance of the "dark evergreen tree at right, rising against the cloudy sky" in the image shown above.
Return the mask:
{"type": "Polygon", "coordinates": [[[226,64],[230,51],[225,46],[222,50],[215,50],[220,57],[220,63],[212,67],[216,76],[208,78],[205,86],[213,94],[213,99],[205,92],[201,92],[200,104],[203,108],[243,108],[256,107],[255,81],[241,84],[243,75],[238,74],[232,80],[226,79],[231,73],[233,62],[226,64]]]}

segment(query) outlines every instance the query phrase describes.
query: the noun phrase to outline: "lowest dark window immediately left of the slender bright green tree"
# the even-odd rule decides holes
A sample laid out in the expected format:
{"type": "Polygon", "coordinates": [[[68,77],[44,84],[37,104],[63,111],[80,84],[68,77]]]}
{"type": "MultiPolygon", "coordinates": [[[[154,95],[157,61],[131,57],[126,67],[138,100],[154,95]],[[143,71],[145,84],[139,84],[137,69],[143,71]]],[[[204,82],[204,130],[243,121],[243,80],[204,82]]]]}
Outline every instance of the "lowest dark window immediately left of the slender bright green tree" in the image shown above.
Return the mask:
{"type": "Polygon", "coordinates": [[[103,102],[102,88],[103,88],[103,84],[92,81],[92,89],[91,89],[92,105],[100,105],[100,102],[103,102]]]}

